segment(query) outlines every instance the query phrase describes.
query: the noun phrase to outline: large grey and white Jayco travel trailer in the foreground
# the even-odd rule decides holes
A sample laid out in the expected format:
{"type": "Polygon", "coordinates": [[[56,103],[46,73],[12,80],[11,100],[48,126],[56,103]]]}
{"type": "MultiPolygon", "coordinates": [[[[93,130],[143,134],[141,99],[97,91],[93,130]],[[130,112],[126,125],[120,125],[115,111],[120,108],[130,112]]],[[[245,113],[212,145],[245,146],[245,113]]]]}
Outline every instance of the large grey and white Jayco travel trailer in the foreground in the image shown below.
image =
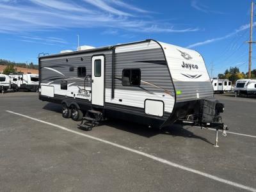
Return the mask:
{"type": "Polygon", "coordinates": [[[190,120],[225,129],[223,104],[214,99],[196,51],[144,40],[42,56],[38,63],[39,99],[61,104],[65,118],[81,120],[84,112],[84,129],[108,117],[160,128],[190,120]]]}

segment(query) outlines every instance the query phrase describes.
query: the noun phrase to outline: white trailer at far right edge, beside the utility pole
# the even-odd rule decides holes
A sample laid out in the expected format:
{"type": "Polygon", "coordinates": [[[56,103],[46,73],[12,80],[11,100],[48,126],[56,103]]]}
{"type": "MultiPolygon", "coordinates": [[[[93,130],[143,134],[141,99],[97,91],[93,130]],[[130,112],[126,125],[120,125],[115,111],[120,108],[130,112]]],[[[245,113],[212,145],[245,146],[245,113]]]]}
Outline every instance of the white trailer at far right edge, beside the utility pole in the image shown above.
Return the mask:
{"type": "Polygon", "coordinates": [[[256,79],[239,79],[234,88],[236,95],[256,95],[256,79]]]}

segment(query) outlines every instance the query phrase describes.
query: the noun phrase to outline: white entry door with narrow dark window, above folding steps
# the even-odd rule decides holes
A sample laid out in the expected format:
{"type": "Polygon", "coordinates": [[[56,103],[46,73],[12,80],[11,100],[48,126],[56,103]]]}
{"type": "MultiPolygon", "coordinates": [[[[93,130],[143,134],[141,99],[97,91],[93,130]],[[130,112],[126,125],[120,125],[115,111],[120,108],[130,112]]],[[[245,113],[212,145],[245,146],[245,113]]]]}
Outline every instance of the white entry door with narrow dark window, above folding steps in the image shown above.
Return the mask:
{"type": "Polygon", "coordinates": [[[92,58],[92,104],[104,106],[104,56],[92,58]]]}

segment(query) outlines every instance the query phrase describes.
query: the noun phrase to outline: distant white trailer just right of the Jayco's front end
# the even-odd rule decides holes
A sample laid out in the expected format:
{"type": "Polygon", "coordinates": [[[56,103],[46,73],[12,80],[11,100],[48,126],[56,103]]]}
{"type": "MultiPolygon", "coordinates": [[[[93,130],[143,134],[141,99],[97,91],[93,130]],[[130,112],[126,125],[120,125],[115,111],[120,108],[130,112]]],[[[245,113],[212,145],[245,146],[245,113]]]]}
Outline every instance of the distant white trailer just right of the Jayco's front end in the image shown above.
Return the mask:
{"type": "Polygon", "coordinates": [[[215,93],[225,93],[232,90],[232,83],[228,79],[211,79],[215,93]]]}

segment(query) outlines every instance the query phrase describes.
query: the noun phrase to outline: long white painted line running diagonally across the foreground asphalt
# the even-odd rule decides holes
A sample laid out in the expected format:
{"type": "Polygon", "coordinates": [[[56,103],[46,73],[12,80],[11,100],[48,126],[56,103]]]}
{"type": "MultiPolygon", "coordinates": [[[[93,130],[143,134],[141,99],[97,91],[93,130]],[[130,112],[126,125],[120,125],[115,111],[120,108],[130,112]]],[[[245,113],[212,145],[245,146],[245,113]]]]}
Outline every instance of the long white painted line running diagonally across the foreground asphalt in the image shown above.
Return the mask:
{"type": "Polygon", "coordinates": [[[171,162],[171,161],[168,161],[168,160],[166,160],[166,159],[162,159],[162,158],[160,158],[160,157],[152,156],[152,155],[150,155],[150,154],[147,154],[147,153],[145,153],[145,152],[141,152],[141,151],[139,151],[139,150],[135,150],[135,149],[132,149],[132,148],[129,148],[129,147],[125,147],[125,146],[123,146],[123,145],[118,145],[118,144],[113,143],[113,142],[111,142],[111,141],[102,140],[102,139],[100,139],[100,138],[96,138],[96,137],[94,137],[94,136],[90,136],[90,135],[88,135],[88,134],[84,134],[84,133],[82,133],[82,132],[78,132],[78,131],[74,131],[74,130],[72,130],[72,129],[68,129],[67,127],[63,127],[63,126],[61,126],[61,125],[56,125],[56,124],[52,124],[52,123],[50,123],[50,122],[45,122],[44,120],[39,120],[38,118],[33,118],[33,117],[31,117],[31,116],[23,115],[23,114],[20,114],[20,113],[15,113],[15,112],[13,112],[13,111],[8,111],[8,110],[7,110],[6,112],[12,113],[12,114],[14,114],[14,115],[23,116],[23,117],[25,117],[25,118],[29,118],[29,119],[31,119],[31,120],[35,120],[36,122],[41,122],[41,123],[43,123],[43,124],[51,125],[51,126],[53,126],[53,127],[57,127],[57,128],[62,129],[62,130],[64,130],[64,131],[72,132],[72,133],[74,133],[74,134],[78,134],[78,135],[80,135],[80,136],[84,136],[84,137],[90,138],[90,139],[92,139],[92,140],[100,141],[100,142],[106,143],[106,144],[108,144],[108,145],[112,145],[112,146],[115,146],[115,147],[118,147],[118,148],[122,148],[122,149],[124,149],[124,150],[129,151],[129,152],[133,152],[133,153],[135,153],[135,154],[139,154],[139,155],[141,155],[141,156],[148,157],[148,158],[153,159],[153,160],[155,160],[155,161],[159,161],[160,163],[168,164],[168,165],[170,165],[170,166],[173,166],[173,167],[175,167],[175,168],[179,168],[179,169],[181,169],[181,170],[185,170],[185,171],[187,171],[187,172],[196,173],[196,174],[201,175],[201,176],[203,176],[203,177],[207,177],[207,178],[209,178],[209,179],[216,180],[216,181],[222,182],[222,183],[224,183],[224,184],[228,184],[228,185],[230,185],[230,186],[234,186],[234,187],[236,187],[236,188],[241,188],[241,189],[246,189],[246,190],[248,190],[248,191],[254,191],[254,192],[256,192],[256,189],[255,189],[255,188],[251,188],[251,187],[249,187],[249,186],[244,186],[243,184],[239,184],[239,183],[237,183],[237,182],[232,182],[232,181],[230,181],[230,180],[222,179],[222,178],[220,178],[220,177],[211,175],[211,174],[209,174],[209,173],[200,172],[200,171],[198,171],[198,170],[194,170],[193,168],[188,168],[188,167],[186,167],[186,166],[182,166],[182,165],[180,165],[180,164],[173,163],[173,162],[171,162]]]}

